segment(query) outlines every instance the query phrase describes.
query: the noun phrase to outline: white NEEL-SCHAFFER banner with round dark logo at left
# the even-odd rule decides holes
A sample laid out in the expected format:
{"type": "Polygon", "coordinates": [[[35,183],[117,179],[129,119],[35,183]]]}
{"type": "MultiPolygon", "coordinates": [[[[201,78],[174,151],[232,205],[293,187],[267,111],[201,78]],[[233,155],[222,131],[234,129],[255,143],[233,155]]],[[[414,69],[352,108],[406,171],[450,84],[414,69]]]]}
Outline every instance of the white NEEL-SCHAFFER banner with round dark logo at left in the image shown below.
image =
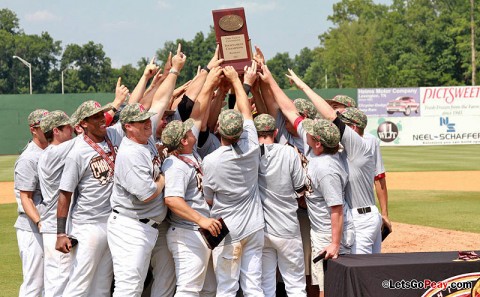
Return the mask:
{"type": "Polygon", "coordinates": [[[478,116],[369,117],[365,132],[382,146],[480,144],[478,116]]]}

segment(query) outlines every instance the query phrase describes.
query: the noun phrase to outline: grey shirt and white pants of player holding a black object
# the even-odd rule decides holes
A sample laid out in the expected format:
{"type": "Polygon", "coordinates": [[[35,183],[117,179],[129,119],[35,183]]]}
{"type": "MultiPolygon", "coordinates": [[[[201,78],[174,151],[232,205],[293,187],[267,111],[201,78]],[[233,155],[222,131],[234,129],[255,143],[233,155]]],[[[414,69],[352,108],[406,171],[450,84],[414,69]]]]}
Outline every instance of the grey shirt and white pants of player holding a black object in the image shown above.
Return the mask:
{"type": "MultiPolygon", "coordinates": [[[[192,132],[198,138],[195,126],[192,127],[192,132]]],[[[162,171],[165,172],[165,198],[183,198],[189,207],[208,218],[210,208],[201,191],[201,174],[193,164],[202,165],[201,158],[195,151],[192,154],[180,154],[178,158],[170,156],[165,160],[162,165],[162,171]],[[190,160],[192,165],[182,158],[190,160]]],[[[175,261],[176,296],[199,296],[202,288],[202,296],[215,296],[216,283],[205,282],[208,264],[211,263],[211,250],[200,235],[199,226],[173,211],[169,212],[169,219],[167,244],[175,261]]]]}

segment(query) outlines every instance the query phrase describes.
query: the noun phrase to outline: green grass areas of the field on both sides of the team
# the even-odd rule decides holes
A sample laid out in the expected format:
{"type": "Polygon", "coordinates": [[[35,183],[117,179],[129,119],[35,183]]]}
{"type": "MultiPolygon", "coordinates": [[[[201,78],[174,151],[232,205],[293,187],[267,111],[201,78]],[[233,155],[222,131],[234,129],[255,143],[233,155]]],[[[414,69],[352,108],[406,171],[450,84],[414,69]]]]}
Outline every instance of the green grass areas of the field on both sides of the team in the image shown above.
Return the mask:
{"type": "MultiPolygon", "coordinates": [[[[387,171],[480,170],[480,145],[382,147],[387,171]]],[[[0,181],[13,180],[17,156],[0,156],[0,181]]],[[[480,192],[389,191],[394,222],[480,233],[480,192]]],[[[16,205],[0,205],[0,296],[18,295],[21,263],[13,224],[16,205]]]]}

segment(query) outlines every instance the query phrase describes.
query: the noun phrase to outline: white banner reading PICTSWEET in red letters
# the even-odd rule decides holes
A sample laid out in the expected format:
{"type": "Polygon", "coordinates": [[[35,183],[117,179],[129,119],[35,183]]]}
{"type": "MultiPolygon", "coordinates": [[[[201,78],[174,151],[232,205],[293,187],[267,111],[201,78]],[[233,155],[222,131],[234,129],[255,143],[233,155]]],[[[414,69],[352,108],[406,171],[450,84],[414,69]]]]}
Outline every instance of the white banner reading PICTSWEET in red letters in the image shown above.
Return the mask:
{"type": "Polygon", "coordinates": [[[480,87],[420,88],[422,116],[480,115],[480,87]]]}

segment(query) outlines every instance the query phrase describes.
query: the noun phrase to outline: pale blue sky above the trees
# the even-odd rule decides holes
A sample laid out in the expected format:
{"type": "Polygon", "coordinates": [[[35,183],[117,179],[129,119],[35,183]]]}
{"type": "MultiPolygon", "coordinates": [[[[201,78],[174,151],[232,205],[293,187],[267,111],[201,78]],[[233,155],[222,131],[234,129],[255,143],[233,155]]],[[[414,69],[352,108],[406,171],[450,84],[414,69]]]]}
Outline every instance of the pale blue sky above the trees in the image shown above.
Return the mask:
{"type": "MultiPolygon", "coordinates": [[[[332,24],[327,17],[339,0],[0,0],[0,9],[17,14],[26,34],[48,32],[54,40],[83,45],[100,43],[112,66],[152,57],[166,41],[191,40],[209,32],[212,10],[244,7],[252,45],[266,59],[318,46],[332,24]]],[[[390,4],[391,0],[374,0],[390,4]]],[[[185,53],[188,58],[188,53],[185,53]]]]}

